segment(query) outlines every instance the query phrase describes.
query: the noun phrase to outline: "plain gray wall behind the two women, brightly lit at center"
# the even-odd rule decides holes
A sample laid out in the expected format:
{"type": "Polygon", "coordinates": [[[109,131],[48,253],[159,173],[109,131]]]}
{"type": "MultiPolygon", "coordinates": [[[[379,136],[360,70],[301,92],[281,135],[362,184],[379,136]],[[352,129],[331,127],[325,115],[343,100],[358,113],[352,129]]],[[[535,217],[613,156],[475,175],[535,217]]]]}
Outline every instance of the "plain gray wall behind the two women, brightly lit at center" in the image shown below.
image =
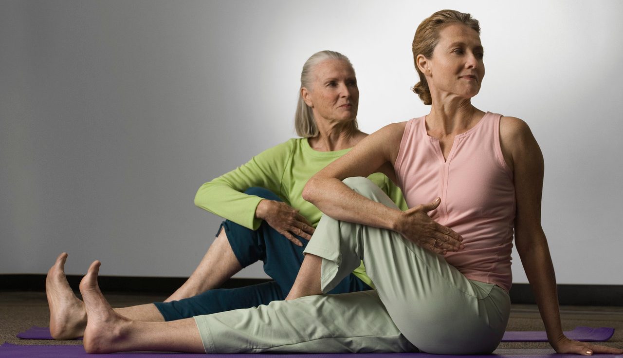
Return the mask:
{"type": "Polygon", "coordinates": [[[72,274],[101,259],[106,275],[189,275],[220,222],[195,191],[295,135],[305,59],[351,58],[367,132],[426,114],[411,40],[441,8],[481,21],[473,103],[540,142],[559,283],[623,284],[616,0],[2,1],[0,273],[45,273],[66,250],[72,274]]]}

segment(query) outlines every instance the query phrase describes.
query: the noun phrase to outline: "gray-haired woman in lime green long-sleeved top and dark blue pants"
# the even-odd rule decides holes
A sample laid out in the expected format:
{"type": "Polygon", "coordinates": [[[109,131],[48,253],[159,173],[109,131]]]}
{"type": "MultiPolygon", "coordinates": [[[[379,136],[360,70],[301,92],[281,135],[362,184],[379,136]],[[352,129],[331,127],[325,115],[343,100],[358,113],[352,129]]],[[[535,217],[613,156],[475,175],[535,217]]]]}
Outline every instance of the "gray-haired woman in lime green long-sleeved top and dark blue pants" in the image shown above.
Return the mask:
{"type": "MultiPolygon", "coordinates": [[[[357,127],[358,103],[350,60],[333,51],[313,54],[303,65],[295,115],[297,134],[302,138],[265,150],[202,185],[196,205],[227,220],[199,266],[166,301],[116,311],[140,321],[174,321],[285,299],[321,216],[303,200],[303,187],[312,175],[366,137],[357,127]],[[219,289],[240,269],[260,260],[274,281],[219,289]]],[[[369,178],[406,208],[400,190],[385,175],[375,173],[369,178]]],[[[83,302],[67,284],[66,259],[66,253],[60,254],[46,281],[50,332],[55,339],[82,336],[87,319],[83,302]]],[[[331,293],[369,289],[371,280],[361,265],[331,293]]]]}

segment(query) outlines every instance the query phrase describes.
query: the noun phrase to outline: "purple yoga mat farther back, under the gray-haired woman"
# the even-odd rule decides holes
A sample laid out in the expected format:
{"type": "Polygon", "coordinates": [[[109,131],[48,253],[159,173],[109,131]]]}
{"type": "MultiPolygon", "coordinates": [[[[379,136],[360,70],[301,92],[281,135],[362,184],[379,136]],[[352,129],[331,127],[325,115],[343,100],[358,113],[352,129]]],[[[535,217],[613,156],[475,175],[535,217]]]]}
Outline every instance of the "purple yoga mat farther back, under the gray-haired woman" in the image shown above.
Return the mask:
{"type": "MultiPolygon", "coordinates": [[[[565,331],[565,336],[583,342],[605,342],[614,334],[614,328],[576,327],[573,331],[565,331]]],[[[31,327],[26,332],[17,334],[21,339],[52,339],[49,327],[31,327]]],[[[508,331],[502,342],[547,342],[543,331],[508,331]]]]}

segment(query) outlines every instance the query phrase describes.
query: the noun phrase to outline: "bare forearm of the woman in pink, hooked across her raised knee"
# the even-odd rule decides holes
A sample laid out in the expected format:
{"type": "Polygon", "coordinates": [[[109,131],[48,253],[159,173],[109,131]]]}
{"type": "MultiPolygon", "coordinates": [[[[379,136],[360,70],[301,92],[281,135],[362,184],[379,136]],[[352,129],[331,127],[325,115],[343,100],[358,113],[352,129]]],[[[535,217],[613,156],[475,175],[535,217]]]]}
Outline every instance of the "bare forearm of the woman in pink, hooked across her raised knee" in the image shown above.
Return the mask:
{"type": "Polygon", "coordinates": [[[396,231],[402,216],[401,210],[359,195],[337,178],[313,177],[303,198],[331,218],[377,228],[396,231]]]}

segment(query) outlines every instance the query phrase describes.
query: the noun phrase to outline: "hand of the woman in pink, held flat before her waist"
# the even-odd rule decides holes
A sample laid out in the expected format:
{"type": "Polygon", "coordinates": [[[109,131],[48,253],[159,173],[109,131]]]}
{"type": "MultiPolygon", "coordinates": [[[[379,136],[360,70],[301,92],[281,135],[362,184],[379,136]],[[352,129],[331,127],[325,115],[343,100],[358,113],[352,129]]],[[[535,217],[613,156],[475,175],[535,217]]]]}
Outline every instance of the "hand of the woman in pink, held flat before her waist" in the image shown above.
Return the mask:
{"type": "Polygon", "coordinates": [[[434,253],[443,255],[446,251],[464,249],[465,246],[461,243],[463,238],[459,234],[440,225],[427,214],[435,210],[440,203],[441,199],[437,198],[432,203],[417,205],[403,211],[396,231],[404,238],[434,253]]]}

